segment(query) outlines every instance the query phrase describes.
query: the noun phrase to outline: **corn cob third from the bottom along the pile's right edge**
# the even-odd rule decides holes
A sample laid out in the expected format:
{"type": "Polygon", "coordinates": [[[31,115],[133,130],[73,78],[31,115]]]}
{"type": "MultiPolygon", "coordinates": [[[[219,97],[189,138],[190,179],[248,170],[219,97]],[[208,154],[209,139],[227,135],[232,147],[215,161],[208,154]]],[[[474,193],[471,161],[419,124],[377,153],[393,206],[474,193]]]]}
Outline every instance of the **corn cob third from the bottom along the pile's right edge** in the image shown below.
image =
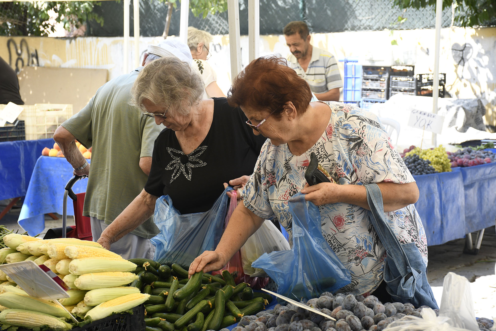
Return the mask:
{"type": "Polygon", "coordinates": [[[94,290],[97,288],[122,286],[136,279],[138,279],[138,276],[131,272],[95,272],[85,273],[77,277],[74,285],[80,290],[94,290]]]}

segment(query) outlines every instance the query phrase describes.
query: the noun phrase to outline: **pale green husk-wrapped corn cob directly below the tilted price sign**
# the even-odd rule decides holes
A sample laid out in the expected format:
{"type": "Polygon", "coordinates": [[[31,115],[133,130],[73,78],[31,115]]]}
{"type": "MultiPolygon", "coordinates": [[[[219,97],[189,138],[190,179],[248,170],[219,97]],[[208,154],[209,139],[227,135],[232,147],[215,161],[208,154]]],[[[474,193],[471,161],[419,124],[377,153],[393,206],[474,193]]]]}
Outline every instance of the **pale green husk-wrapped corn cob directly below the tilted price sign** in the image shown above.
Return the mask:
{"type": "Polygon", "coordinates": [[[30,297],[18,293],[0,294],[0,305],[9,309],[23,309],[29,307],[32,311],[49,314],[55,317],[69,318],[69,314],[61,306],[48,300],[30,297]]]}

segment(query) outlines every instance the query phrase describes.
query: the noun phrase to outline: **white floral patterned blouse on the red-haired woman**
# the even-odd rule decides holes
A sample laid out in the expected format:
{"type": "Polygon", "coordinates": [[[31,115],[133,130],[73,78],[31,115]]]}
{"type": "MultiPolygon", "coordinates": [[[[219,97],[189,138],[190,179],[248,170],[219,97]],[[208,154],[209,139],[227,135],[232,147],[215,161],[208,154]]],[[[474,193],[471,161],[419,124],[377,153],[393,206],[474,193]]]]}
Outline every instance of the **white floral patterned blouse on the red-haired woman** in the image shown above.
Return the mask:
{"type": "MultiPolygon", "coordinates": [[[[273,146],[267,140],[245,187],[245,206],[261,218],[277,218],[288,231],[290,243],[292,219],[288,200],[307,183],[305,170],[311,152],[341,185],[415,181],[376,115],[351,104],[325,103],[332,114],[315,145],[295,156],[287,144],[273,146]]],[[[346,203],[322,205],[319,210],[322,236],[352,275],[351,283],[341,290],[354,294],[375,290],[382,281],[386,254],[368,211],[346,203]]],[[[415,242],[427,265],[426,234],[415,206],[385,215],[398,240],[415,242]]]]}

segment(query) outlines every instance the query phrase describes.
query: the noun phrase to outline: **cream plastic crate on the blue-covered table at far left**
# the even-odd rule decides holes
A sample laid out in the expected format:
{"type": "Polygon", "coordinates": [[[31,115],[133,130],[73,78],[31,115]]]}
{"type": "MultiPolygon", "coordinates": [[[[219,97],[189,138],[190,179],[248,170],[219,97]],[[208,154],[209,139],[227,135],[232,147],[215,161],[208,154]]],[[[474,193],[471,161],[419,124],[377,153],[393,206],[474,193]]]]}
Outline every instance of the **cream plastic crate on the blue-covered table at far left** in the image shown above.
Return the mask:
{"type": "MultiPolygon", "coordinates": [[[[0,110],[3,107],[0,105],[0,110]]],[[[24,120],[26,140],[52,138],[59,125],[72,116],[71,104],[35,103],[21,107],[24,110],[18,119],[24,120]]]]}

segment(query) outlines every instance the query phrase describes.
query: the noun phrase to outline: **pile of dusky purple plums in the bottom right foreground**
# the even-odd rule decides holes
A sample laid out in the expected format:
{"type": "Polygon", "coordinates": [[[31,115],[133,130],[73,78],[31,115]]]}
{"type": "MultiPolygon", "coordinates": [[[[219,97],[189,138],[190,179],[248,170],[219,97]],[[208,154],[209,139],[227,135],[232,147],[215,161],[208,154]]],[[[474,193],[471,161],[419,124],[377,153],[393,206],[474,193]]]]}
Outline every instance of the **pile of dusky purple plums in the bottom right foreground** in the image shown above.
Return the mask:
{"type": "MultiPolygon", "coordinates": [[[[410,303],[382,303],[375,296],[324,292],[319,298],[302,301],[336,322],[326,319],[293,304],[277,304],[253,316],[241,318],[233,331],[381,331],[389,324],[406,315],[422,317],[420,312],[427,306],[415,308],[410,303]]],[[[439,310],[435,309],[436,315],[439,310]]],[[[479,329],[489,331],[491,320],[478,319],[479,329]]],[[[222,329],[221,331],[227,331],[222,329]]]]}

